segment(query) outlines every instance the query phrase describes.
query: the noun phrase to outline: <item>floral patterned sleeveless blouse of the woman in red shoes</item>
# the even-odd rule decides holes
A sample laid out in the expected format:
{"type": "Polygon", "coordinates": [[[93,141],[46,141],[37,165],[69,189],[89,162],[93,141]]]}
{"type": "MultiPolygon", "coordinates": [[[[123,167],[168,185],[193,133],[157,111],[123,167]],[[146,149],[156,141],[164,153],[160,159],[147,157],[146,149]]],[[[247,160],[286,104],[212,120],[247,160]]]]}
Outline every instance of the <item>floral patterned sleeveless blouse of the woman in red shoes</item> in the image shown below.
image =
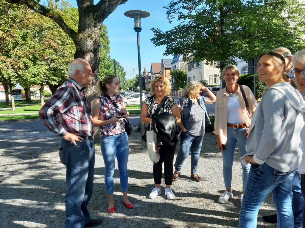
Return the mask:
{"type": "MultiPolygon", "coordinates": [[[[108,98],[99,95],[96,97],[99,100],[99,103],[101,104],[101,110],[99,112],[99,120],[108,120],[111,119],[113,116],[119,114],[119,111],[112,103],[108,100],[108,98]]],[[[117,105],[120,107],[120,109],[123,108],[123,96],[119,93],[116,93],[114,97],[112,98],[117,105]]],[[[118,135],[125,132],[125,123],[124,120],[120,120],[117,122],[117,124],[107,124],[104,126],[101,126],[99,128],[99,136],[101,137],[104,135],[118,135]]]]}

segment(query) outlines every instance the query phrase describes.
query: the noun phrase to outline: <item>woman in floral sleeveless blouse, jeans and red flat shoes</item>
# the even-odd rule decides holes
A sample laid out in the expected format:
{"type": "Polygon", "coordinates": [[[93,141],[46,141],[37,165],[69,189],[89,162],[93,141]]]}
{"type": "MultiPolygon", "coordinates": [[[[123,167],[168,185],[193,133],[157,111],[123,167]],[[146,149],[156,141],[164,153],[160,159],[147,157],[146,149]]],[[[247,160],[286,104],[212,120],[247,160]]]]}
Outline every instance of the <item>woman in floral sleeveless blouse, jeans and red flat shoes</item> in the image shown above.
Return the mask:
{"type": "Polygon", "coordinates": [[[99,128],[101,151],[105,163],[105,185],[108,195],[109,213],[115,212],[113,199],[114,183],[113,174],[115,158],[120,174],[123,203],[130,209],[133,208],[127,197],[128,171],[127,161],[129,155],[128,136],[125,131],[125,122],[121,116],[128,117],[129,113],[120,94],[120,82],[115,75],[106,75],[103,81],[96,84],[99,94],[92,104],[92,117],[94,125],[99,128]]]}

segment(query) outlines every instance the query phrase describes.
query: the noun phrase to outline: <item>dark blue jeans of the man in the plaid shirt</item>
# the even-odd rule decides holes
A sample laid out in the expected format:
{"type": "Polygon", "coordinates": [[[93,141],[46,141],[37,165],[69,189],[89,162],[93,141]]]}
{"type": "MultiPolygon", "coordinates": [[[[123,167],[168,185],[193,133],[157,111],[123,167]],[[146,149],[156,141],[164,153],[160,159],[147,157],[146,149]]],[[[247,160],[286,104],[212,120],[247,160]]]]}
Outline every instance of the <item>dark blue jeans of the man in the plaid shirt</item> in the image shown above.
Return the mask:
{"type": "Polygon", "coordinates": [[[89,223],[87,209],[93,193],[95,152],[92,140],[77,142],[62,139],[60,160],[66,165],[66,228],[83,228],[89,223]]]}

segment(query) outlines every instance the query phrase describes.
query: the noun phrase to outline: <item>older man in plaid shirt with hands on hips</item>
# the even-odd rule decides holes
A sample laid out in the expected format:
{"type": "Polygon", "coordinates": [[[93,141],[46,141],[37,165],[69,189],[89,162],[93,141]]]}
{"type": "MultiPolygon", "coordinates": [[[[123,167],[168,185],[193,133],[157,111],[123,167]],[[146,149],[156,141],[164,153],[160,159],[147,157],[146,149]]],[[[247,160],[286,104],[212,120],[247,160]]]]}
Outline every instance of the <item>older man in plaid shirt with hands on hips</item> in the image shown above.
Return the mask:
{"type": "Polygon", "coordinates": [[[87,209],[93,192],[94,125],[91,107],[84,91],[92,84],[94,74],[83,59],[74,59],[68,67],[68,80],[39,111],[43,123],[62,137],[59,157],[66,165],[66,228],[97,226],[87,209]]]}

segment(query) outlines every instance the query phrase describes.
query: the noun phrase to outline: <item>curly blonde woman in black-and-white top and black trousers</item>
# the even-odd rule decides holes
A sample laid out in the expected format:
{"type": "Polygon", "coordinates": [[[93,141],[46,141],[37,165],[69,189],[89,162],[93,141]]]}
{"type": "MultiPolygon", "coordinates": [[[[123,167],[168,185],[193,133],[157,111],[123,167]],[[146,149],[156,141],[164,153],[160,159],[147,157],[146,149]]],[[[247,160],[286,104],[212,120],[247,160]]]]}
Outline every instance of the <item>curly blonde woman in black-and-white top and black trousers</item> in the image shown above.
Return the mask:
{"type": "MultiPolygon", "coordinates": [[[[175,100],[168,96],[170,94],[170,82],[167,78],[164,78],[160,74],[155,74],[154,79],[151,82],[151,94],[152,96],[146,98],[141,113],[141,121],[143,123],[150,124],[153,114],[155,113],[158,105],[162,102],[164,97],[167,97],[161,112],[168,112],[177,119],[177,123],[180,128],[184,128],[180,119],[180,112],[175,100]]],[[[160,160],[157,163],[153,163],[153,177],[155,182],[155,188],[149,194],[150,199],[155,199],[157,195],[161,194],[161,179],[162,179],[162,165],[164,163],[164,179],[165,179],[165,195],[167,199],[175,199],[175,195],[172,192],[170,186],[172,184],[173,175],[173,161],[177,143],[165,143],[160,146],[159,154],[160,160]]]]}

